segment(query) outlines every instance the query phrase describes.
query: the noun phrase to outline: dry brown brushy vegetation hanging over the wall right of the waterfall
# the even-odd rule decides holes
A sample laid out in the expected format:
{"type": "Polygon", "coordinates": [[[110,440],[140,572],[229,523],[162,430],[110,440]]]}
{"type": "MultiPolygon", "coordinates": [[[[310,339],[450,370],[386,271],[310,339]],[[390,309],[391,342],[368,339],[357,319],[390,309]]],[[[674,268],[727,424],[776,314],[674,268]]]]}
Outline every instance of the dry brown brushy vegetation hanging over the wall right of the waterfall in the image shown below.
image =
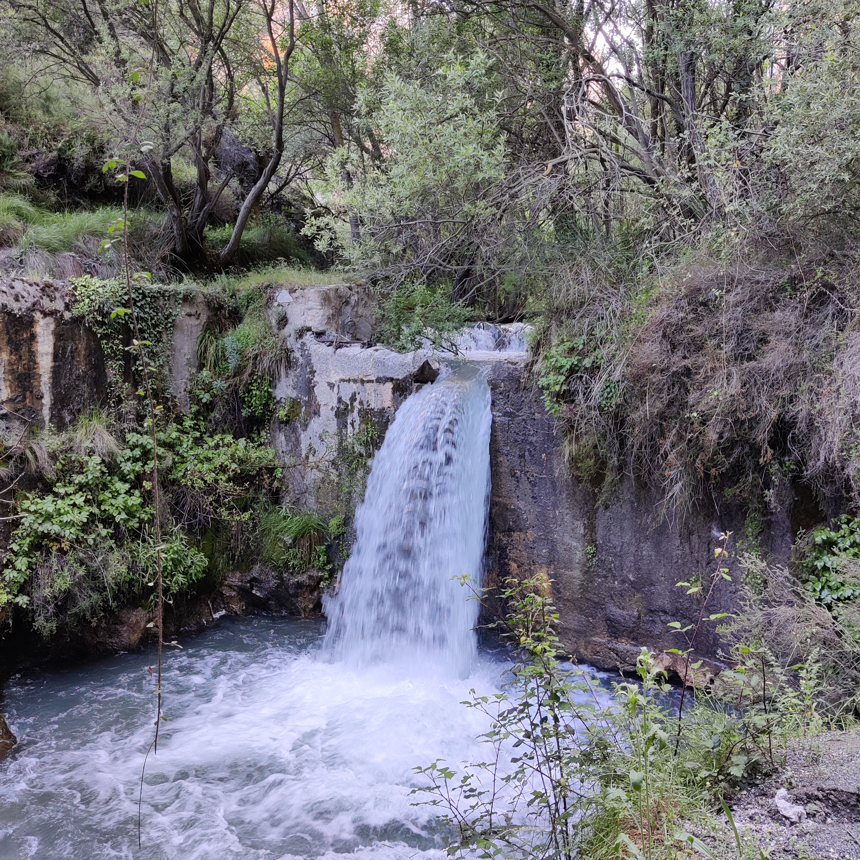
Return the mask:
{"type": "Polygon", "coordinates": [[[624,464],[672,512],[705,494],[772,505],[796,480],[857,507],[858,263],[691,265],[645,298],[579,287],[555,335],[596,359],[559,396],[574,462],[605,480],[624,464]]]}

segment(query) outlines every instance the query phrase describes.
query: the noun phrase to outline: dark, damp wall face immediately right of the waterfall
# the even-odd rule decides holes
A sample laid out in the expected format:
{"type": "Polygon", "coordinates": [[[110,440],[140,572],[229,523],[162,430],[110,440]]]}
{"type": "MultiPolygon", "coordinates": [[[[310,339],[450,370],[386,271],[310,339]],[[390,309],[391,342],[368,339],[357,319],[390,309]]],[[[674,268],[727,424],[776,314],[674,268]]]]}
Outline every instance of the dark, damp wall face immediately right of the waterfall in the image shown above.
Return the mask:
{"type": "MultiPolygon", "coordinates": [[[[488,381],[491,580],[552,581],[562,642],[597,667],[630,670],[642,646],[685,647],[667,624],[695,622],[700,606],[676,583],[713,572],[720,531],[737,525],[733,512],[685,527],[659,524],[653,496],[630,481],[622,482],[609,505],[599,505],[591,488],[571,476],[561,428],[525,366],[494,362],[488,381]]],[[[733,602],[733,587],[721,584],[711,611],[733,602]]],[[[713,658],[717,644],[713,629],[705,629],[697,652],[713,658]]]]}

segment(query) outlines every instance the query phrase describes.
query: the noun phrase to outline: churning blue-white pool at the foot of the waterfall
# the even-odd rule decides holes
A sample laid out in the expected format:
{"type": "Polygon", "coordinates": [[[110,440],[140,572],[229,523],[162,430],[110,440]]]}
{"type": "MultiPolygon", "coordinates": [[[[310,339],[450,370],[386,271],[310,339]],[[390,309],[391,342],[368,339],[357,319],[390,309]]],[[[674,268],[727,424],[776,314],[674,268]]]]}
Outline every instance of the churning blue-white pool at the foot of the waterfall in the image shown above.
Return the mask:
{"type": "Polygon", "coordinates": [[[139,849],[154,653],[12,679],[0,857],[444,857],[413,768],[481,758],[486,723],[461,703],[498,689],[501,662],[479,654],[465,679],[360,669],[320,659],[321,636],[314,621],[225,618],[166,654],[139,849]]]}

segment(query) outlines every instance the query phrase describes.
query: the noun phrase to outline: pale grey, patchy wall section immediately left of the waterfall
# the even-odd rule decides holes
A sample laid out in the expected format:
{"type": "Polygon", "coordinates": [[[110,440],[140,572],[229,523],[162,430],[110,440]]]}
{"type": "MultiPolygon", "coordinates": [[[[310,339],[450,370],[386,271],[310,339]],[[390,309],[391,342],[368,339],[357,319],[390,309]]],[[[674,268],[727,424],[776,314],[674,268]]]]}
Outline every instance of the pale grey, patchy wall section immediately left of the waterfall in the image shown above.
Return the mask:
{"type": "Polygon", "coordinates": [[[288,494],[304,507],[346,512],[427,355],[350,342],[367,341],[377,324],[375,306],[360,288],[285,289],[275,299],[275,318],[286,312],[281,334],[292,354],[276,380],[275,398],[284,406],[272,434],[287,466],[288,494]]]}

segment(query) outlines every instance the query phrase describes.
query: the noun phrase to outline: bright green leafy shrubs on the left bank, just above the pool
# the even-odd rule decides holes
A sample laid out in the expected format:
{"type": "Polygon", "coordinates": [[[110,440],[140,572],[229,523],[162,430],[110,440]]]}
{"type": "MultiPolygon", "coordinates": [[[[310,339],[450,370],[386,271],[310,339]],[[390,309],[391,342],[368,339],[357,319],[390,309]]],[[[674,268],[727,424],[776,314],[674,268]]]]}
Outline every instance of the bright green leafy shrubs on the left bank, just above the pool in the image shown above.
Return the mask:
{"type": "MultiPolygon", "coordinates": [[[[30,445],[40,488],[15,497],[20,522],[4,559],[0,606],[29,607],[45,635],[61,619],[95,623],[110,607],[152,598],[152,439],[142,430],[127,430],[120,445],[100,415],[89,415],[30,445]]],[[[173,514],[159,544],[171,599],[209,569],[195,545],[202,533],[220,524],[241,539],[253,501],[280,472],[268,445],[208,435],[193,415],[158,427],[157,443],[163,499],[173,514]]]]}

